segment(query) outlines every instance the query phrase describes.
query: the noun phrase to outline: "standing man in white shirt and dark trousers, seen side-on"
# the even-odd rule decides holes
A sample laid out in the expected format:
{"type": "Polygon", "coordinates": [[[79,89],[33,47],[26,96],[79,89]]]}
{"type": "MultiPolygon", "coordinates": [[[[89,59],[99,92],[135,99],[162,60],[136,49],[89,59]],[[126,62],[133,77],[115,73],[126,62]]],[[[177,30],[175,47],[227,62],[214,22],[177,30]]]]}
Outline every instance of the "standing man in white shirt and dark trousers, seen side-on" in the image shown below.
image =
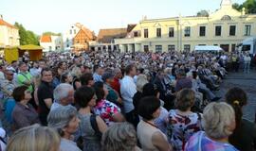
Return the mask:
{"type": "Polygon", "coordinates": [[[134,76],[137,74],[137,68],[135,65],[130,64],[125,68],[125,76],[120,82],[120,93],[123,99],[123,107],[126,116],[126,120],[137,126],[138,117],[135,114],[135,107],[133,104],[133,97],[137,92],[137,87],[134,81],[134,76]]]}

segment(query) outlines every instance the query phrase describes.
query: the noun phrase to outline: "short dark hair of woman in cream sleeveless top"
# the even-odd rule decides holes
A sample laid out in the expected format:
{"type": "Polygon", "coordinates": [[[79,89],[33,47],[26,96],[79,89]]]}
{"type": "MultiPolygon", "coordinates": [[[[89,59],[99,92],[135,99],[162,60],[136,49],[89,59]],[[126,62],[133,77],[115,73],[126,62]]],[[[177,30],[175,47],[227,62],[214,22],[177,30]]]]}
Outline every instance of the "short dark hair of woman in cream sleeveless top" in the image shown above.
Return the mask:
{"type": "Polygon", "coordinates": [[[145,120],[152,120],[153,113],[160,107],[160,100],[155,96],[143,97],[137,107],[138,114],[145,120]]]}

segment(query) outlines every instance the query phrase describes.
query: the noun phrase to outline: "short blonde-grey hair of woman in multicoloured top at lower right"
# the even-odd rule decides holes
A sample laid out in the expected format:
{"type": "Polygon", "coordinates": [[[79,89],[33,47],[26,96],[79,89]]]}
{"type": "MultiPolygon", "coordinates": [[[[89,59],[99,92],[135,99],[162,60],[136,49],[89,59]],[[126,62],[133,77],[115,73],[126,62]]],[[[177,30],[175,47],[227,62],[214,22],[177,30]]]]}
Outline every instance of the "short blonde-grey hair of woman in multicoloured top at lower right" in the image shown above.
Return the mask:
{"type": "Polygon", "coordinates": [[[210,103],[203,112],[202,126],[213,139],[229,137],[232,131],[229,126],[235,123],[234,110],[225,102],[210,103]]]}

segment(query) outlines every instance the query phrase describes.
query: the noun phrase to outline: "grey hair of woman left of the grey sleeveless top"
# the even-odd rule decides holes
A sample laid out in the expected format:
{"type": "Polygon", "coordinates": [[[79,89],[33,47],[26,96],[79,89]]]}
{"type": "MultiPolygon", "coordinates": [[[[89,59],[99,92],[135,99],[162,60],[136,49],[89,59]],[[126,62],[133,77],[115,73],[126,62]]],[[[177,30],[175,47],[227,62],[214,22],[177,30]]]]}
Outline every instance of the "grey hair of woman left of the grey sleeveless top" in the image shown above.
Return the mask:
{"type": "MultiPolygon", "coordinates": [[[[57,130],[64,128],[77,116],[77,109],[72,106],[58,107],[49,112],[47,117],[48,126],[57,130]]],[[[60,131],[59,131],[60,132],[60,131]]]]}

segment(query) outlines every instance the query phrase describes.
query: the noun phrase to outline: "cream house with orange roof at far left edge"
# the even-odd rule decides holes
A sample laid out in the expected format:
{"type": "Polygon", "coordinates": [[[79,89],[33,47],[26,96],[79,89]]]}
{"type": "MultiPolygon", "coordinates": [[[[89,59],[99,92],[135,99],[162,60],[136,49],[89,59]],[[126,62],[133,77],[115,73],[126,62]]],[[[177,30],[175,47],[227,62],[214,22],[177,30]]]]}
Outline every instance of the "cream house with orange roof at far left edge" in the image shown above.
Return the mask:
{"type": "Polygon", "coordinates": [[[3,20],[0,15],[0,48],[20,45],[19,29],[3,20]]]}

